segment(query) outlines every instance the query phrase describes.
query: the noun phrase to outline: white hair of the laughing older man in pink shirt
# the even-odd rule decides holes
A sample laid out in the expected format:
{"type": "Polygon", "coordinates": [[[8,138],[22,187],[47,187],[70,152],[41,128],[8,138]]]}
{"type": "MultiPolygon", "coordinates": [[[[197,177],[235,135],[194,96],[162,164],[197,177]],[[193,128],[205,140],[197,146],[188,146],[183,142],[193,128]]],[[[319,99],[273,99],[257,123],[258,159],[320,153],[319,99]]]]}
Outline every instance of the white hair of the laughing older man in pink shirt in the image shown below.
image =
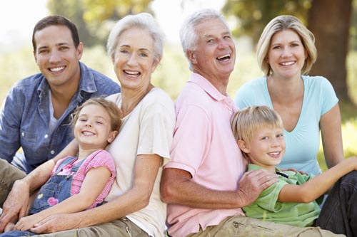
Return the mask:
{"type": "MultiPolygon", "coordinates": [[[[186,51],[194,51],[197,47],[198,36],[196,32],[196,26],[198,26],[200,23],[203,23],[204,21],[211,19],[220,19],[229,29],[226,19],[221,13],[214,9],[201,9],[195,11],[193,14],[188,16],[185,21],[183,21],[180,29],[180,40],[186,58],[186,51]]],[[[188,60],[188,63],[190,64],[190,70],[193,70],[193,65],[191,64],[190,60],[188,60]]]]}

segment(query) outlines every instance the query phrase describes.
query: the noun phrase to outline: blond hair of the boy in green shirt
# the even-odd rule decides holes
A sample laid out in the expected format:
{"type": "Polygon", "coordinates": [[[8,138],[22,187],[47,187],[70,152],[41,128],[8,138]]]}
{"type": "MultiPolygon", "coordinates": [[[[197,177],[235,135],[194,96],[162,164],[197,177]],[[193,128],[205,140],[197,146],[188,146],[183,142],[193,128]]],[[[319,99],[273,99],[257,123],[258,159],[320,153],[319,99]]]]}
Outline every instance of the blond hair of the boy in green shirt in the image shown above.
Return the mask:
{"type": "MultiPolygon", "coordinates": [[[[278,112],[266,105],[250,106],[236,112],[231,120],[231,127],[236,141],[251,142],[253,134],[261,127],[279,127],[283,129],[283,120],[278,112]]],[[[248,159],[243,152],[243,156],[248,159]]]]}

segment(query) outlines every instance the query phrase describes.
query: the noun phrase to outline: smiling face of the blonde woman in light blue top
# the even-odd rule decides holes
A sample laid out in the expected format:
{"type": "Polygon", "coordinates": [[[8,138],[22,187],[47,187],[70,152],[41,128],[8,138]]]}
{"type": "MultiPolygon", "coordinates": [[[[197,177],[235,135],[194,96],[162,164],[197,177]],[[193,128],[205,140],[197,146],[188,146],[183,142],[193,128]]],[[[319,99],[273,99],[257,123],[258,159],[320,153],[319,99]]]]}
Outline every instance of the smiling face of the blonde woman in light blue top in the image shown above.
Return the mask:
{"type": "Polygon", "coordinates": [[[272,76],[300,78],[307,52],[295,31],[279,31],[271,38],[266,60],[273,71],[272,76]]]}

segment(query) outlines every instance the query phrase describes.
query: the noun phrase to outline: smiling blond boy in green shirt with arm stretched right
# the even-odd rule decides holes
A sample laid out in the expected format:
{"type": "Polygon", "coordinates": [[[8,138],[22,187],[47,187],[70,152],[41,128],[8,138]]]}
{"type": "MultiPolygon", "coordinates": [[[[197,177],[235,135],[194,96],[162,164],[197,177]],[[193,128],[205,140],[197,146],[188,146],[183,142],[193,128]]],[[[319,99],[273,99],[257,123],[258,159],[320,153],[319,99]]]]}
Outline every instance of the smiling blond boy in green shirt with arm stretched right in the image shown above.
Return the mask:
{"type": "MultiPolygon", "coordinates": [[[[285,152],[283,122],[267,106],[251,106],[233,115],[231,126],[238,147],[248,159],[248,171],[268,169],[279,181],[269,186],[252,204],[246,216],[293,226],[313,226],[320,206],[316,199],[343,175],[357,169],[357,157],[345,159],[316,177],[276,168],[285,152]]],[[[301,147],[303,149],[303,147],[301,147]]]]}

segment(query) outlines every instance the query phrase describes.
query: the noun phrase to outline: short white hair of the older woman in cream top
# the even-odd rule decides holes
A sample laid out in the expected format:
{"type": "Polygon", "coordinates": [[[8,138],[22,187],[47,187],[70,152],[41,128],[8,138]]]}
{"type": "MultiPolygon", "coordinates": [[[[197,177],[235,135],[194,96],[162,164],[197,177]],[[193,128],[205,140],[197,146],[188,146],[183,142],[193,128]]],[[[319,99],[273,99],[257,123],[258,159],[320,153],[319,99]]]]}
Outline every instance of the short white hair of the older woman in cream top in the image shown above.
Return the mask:
{"type": "Polygon", "coordinates": [[[154,58],[160,62],[163,55],[164,48],[164,33],[156,24],[154,17],[148,13],[141,13],[136,15],[128,15],[123,19],[120,19],[108,37],[108,43],[106,44],[106,50],[111,58],[114,58],[115,49],[119,41],[121,33],[129,28],[140,28],[149,31],[154,41],[154,58]]]}

